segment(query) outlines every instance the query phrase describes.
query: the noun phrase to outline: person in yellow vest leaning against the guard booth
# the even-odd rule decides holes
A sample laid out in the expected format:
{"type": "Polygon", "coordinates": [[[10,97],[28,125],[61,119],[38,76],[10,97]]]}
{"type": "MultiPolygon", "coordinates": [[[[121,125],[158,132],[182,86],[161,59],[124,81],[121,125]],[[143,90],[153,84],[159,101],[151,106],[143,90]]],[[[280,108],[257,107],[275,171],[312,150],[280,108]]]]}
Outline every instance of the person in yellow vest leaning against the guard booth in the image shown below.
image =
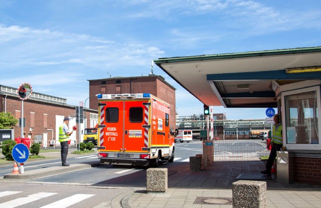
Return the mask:
{"type": "Polygon", "coordinates": [[[262,174],[271,175],[272,165],[276,157],[276,151],[280,151],[282,148],[282,124],[280,122],[280,116],[275,114],[273,116],[274,125],[272,127],[272,139],[271,139],[271,152],[266,163],[266,169],[261,171],[262,174]]]}

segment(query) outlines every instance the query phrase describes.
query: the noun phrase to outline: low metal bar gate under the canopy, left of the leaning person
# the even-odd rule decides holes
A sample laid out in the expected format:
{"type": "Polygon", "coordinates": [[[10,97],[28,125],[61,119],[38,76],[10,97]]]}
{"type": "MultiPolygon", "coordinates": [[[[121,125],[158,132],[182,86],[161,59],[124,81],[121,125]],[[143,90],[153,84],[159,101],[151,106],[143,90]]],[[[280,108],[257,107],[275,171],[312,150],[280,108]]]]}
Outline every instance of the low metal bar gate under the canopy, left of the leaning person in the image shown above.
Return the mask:
{"type": "Polygon", "coordinates": [[[264,160],[270,154],[265,139],[214,140],[213,145],[214,161],[264,160]]]}

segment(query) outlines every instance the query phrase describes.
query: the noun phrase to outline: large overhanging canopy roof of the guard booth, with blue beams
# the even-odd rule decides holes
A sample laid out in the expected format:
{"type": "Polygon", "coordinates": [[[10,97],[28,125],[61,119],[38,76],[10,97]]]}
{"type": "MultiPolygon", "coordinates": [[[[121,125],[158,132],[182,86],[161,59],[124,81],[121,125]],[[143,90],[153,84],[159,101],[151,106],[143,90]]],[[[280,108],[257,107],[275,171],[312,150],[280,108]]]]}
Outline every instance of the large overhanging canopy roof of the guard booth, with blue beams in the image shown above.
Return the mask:
{"type": "Polygon", "coordinates": [[[276,107],[280,85],[321,79],[320,57],[321,47],[311,47],[153,61],[206,105],[276,107]]]}

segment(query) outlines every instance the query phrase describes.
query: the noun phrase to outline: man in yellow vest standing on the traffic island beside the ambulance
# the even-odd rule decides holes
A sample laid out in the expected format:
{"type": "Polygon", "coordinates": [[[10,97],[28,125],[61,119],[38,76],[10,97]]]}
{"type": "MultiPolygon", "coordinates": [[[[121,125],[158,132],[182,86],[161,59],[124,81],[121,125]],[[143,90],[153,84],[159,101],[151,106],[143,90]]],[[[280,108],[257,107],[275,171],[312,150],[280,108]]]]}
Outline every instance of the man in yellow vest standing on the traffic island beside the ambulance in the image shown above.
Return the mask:
{"type": "Polygon", "coordinates": [[[62,166],[69,166],[67,164],[68,155],[68,141],[70,140],[70,135],[73,130],[69,131],[67,124],[69,123],[69,118],[65,117],[64,122],[59,126],[59,142],[61,146],[61,163],[62,166]]]}

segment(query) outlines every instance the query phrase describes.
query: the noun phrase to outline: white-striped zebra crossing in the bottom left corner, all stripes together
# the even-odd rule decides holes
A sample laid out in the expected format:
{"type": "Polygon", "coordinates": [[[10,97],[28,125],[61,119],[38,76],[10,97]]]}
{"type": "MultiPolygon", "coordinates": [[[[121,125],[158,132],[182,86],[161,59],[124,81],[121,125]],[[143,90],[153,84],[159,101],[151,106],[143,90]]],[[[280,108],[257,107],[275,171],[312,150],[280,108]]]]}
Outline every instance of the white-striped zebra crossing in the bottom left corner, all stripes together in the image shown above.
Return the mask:
{"type": "MultiPolygon", "coordinates": [[[[2,202],[3,199],[2,197],[4,196],[9,196],[9,195],[14,195],[17,193],[21,193],[22,191],[2,191],[0,192],[0,201],[2,202]]],[[[3,203],[0,203],[1,208],[14,208],[17,206],[21,206],[36,200],[41,200],[45,199],[46,197],[50,197],[52,195],[55,195],[58,193],[52,193],[52,192],[39,192],[39,193],[34,193],[25,197],[18,197],[13,200],[9,200],[3,203]]],[[[65,208],[68,206],[71,206],[75,203],[78,203],[86,198],[92,197],[95,194],[74,194],[72,196],[63,198],[61,200],[49,203],[47,205],[41,206],[39,208],[54,208],[54,207],[59,207],[59,208],[65,208]]]]}

